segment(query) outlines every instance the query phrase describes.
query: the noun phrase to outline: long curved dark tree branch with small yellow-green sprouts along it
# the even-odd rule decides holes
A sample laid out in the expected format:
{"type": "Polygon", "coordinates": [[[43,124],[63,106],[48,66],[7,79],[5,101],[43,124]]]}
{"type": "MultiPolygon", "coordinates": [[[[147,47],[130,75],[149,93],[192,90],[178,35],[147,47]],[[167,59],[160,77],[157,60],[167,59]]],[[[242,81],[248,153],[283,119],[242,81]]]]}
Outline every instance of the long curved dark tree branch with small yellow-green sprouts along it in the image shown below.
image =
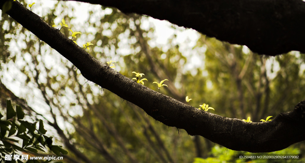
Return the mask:
{"type": "MultiPolygon", "coordinates": [[[[168,126],[185,129],[190,135],[201,135],[233,150],[250,152],[277,151],[305,140],[305,101],[292,112],[279,114],[273,121],[264,123],[246,123],[198,110],[135,83],[99,62],[19,2],[10,1],[13,5],[7,13],[70,60],[86,79],[138,105],[168,126]]],[[[0,6],[3,4],[0,1],[0,6]]]]}

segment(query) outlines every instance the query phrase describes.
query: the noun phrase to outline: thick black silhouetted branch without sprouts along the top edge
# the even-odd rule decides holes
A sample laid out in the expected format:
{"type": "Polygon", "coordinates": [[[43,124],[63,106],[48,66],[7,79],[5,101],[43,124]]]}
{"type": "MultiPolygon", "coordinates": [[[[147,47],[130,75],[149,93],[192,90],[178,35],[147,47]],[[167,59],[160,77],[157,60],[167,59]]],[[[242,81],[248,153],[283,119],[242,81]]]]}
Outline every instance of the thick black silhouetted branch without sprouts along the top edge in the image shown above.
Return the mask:
{"type": "Polygon", "coordinates": [[[112,6],[192,28],[253,52],[305,53],[302,0],[76,0],[112,6]]]}

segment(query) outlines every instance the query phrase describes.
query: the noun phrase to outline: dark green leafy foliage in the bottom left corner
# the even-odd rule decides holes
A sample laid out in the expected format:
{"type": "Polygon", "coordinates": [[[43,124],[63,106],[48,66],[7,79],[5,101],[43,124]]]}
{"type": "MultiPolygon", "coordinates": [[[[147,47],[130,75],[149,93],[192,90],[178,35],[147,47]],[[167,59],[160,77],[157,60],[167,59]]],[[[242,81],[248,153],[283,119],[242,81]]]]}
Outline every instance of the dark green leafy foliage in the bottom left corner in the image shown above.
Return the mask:
{"type": "Polygon", "coordinates": [[[52,145],[52,137],[45,135],[47,131],[42,120],[39,120],[39,127],[36,128],[38,121],[30,123],[23,120],[24,116],[25,113],[20,106],[16,106],[15,111],[11,101],[6,101],[6,118],[3,119],[4,116],[0,113],[0,154],[2,160],[5,159],[5,155],[38,153],[38,151],[45,152],[45,150],[50,150],[57,156],[68,153],[61,146],[52,145]]]}

